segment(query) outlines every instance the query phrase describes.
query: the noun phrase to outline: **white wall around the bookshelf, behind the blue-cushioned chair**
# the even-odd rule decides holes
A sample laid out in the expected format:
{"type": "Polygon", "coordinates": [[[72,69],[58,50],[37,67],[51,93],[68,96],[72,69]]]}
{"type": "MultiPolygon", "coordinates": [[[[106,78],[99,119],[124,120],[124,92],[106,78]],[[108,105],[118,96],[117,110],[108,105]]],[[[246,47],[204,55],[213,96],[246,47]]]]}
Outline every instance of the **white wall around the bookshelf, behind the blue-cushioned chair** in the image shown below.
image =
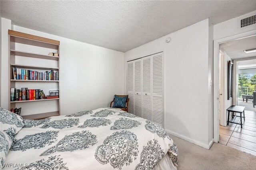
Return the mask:
{"type": "MultiPolygon", "coordinates": [[[[7,21],[2,24],[2,32],[8,37],[11,21],[2,20],[7,21]]],[[[106,107],[114,94],[124,94],[124,53],[16,25],[13,29],[60,41],[61,115],[106,107]]],[[[2,72],[7,72],[8,46],[4,44],[8,45],[8,38],[2,41],[2,72]]],[[[8,82],[8,75],[2,74],[2,80],[8,82]]],[[[8,108],[8,87],[3,84],[1,106],[8,108]]]]}

